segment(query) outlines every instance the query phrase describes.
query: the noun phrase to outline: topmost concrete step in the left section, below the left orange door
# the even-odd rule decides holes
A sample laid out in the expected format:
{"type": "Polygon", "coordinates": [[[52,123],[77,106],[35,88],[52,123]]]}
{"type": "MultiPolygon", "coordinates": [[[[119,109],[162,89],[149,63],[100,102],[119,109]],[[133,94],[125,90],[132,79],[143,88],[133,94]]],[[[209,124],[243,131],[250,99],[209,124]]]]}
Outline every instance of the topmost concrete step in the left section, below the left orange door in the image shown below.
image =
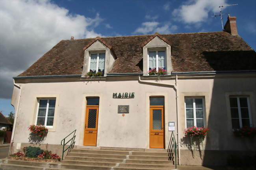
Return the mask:
{"type": "Polygon", "coordinates": [[[99,149],[72,149],[72,153],[91,153],[91,154],[117,154],[129,155],[129,151],[119,150],[99,150],[99,149]]]}

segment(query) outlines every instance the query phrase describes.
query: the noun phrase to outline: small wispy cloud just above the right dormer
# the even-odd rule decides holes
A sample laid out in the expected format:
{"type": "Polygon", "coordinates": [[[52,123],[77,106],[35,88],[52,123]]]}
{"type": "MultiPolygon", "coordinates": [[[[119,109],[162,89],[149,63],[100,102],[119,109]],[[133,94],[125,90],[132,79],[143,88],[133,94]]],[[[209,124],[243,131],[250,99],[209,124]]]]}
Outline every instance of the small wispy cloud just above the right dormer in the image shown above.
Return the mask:
{"type": "Polygon", "coordinates": [[[176,25],[172,25],[171,23],[165,23],[161,26],[159,22],[143,22],[141,27],[138,27],[132,34],[153,34],[158,32],[160,34],[172,33],[178,29],[176,25]]]}

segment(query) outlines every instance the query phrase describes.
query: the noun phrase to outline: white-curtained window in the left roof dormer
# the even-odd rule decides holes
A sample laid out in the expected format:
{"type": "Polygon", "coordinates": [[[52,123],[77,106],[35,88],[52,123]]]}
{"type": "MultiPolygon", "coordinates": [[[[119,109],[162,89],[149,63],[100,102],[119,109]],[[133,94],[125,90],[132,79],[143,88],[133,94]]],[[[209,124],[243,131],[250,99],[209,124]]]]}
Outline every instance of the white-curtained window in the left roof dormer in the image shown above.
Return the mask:
{"type": "Polygon", "coordinates": [[[97,73],[101,71],[104,73],[105,67],[105,53],[92,53],[90,57],[89,71],[97,73]]]}

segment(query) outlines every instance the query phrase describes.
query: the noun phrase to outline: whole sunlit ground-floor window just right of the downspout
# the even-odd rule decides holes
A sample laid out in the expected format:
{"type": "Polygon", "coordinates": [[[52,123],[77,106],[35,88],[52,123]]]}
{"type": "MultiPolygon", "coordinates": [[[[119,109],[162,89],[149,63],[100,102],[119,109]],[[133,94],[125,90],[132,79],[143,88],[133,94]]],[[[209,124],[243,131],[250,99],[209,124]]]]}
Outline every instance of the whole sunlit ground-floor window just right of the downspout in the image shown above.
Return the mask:
{"type": "Polygon", "coordinates": [[[204,126],[204,98],[185,97],[186,128],[204,126]]]}

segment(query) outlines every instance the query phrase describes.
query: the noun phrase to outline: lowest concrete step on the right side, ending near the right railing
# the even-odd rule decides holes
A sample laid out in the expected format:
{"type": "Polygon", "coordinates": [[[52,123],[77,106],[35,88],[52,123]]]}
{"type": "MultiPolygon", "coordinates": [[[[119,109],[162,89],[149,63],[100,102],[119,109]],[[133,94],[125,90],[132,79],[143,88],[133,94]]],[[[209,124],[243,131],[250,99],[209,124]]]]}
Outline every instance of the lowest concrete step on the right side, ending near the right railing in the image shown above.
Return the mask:
{"type": "Polygon", "coordinates": [[[157,168],[167,170],[171,168],[171,164],[169,165],[161,165],[161,164],[137,164],[137,163],[120,163],[118,167],[126,167],[126,168],[157,168]]]}

